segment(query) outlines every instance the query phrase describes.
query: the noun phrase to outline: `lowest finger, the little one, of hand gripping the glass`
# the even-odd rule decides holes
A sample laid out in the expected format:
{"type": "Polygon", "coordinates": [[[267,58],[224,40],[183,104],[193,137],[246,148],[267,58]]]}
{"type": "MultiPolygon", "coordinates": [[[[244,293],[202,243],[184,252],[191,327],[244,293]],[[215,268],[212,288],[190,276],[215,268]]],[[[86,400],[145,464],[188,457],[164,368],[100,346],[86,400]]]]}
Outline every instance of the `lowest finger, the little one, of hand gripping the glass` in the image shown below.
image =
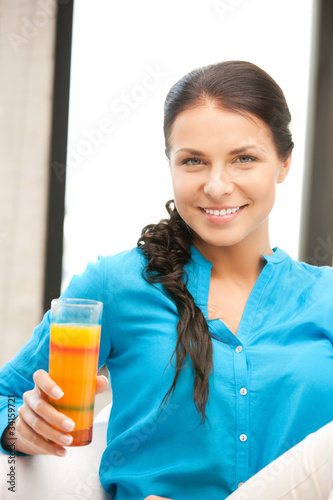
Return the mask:
{"type": "Polygon", "coordinates": [[[20,451],[22,453],[28,453],[29,455],[66,455],[65,448],[45,440],[20,417],[17,421],[16,432],[20,436],[20,451]]]}

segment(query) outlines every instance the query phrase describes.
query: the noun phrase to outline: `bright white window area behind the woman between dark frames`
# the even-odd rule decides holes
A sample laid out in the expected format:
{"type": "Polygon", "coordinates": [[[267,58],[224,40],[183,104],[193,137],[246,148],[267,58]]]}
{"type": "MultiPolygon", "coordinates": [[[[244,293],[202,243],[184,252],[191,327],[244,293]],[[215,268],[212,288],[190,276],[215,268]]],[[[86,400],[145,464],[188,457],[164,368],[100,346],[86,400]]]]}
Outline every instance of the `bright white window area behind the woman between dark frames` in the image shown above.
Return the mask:
{"type": "Polygon", "coordinates": [[[289,104],[295,149],[270,236],[298,258],[313,9],[313,0],[75,2],[62,289],[166,217],[166,94],[192,69],[231,59],[267,71],[289,104]]]}

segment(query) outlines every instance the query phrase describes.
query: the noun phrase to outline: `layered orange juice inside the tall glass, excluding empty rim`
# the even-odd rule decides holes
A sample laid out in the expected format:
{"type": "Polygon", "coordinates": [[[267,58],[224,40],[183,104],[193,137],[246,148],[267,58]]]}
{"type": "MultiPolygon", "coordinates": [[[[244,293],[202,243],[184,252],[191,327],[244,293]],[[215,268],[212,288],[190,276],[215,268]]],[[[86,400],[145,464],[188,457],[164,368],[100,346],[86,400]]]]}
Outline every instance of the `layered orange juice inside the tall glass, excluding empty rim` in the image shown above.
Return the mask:
{"type": "Polygon", "coordinates": [[[100,333],[100,325],[51,324],[49,374],[64,395],[49,402],[75,422],[71,446],[92,439],[100,333]]]}

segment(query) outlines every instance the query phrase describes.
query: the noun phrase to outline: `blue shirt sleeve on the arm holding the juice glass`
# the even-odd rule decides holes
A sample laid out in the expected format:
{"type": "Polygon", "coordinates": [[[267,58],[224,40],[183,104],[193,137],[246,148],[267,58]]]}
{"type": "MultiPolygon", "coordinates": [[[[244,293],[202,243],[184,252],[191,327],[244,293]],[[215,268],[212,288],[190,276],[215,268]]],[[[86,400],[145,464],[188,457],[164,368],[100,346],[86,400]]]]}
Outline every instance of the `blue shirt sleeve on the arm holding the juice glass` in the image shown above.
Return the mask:
{"type": "MultiPolygon", "coordinates": [[[[111,336],[108,318],[108,300],[106,299],[106,259],[99,257],[97,262],[89,263],[80,275],[74,275],[63,292],[63,298],[82,298],[103,302],[101,344],[98,367],[104,365],[111,352],[111,336]]],[[[108,298],[110,301],[110,298],[108,298]]],[[[33,374],[39,369],[48,372],[50,341],[50,311],[45,313],[41,323],[34,329],[30,340],[16,356],[0,370],[0,436],[17,417],[18,409],[23,404],[23,393],[34,388],[33,374]]],[[[5,451],[1,446],[0,449],[5,451]]],[[[18,452],[16,454],[19,454],[18,452]]]]}

